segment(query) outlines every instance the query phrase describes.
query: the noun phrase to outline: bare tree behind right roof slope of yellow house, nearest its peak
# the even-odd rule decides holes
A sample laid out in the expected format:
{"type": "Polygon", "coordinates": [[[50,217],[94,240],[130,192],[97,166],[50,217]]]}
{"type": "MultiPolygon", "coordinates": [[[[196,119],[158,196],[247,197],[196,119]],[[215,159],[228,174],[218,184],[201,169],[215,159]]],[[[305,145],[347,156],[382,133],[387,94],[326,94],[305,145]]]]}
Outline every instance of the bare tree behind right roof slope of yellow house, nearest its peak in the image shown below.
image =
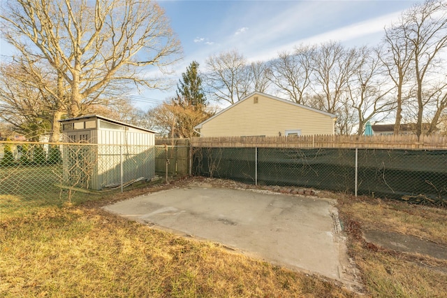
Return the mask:
{"type": "Polygon", "coordinates": [[[281,52],[277,59],[272,60],[272,83],[279,92],[295,101],[297,104],[307,104],[307,90],[312,83],[312,56],[316,54],[315,47],[300,46],[295,52],[281,52]]]}

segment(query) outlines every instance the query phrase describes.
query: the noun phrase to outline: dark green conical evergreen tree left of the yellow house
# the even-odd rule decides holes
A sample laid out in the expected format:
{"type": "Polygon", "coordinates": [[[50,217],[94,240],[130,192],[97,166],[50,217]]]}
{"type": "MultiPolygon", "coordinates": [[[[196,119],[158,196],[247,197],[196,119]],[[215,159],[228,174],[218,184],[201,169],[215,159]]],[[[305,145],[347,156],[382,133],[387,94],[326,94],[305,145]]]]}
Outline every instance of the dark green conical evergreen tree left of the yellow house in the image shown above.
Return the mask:
{"type": "Polygon", "coordinates": [[[194,106],[203,109],[206,105],[205,94],[203,94],[202,79],[198,74],[198,62],[193,61],[182,73],[182,78],[177,84],[177,98],[184,106],[194,106]]]}

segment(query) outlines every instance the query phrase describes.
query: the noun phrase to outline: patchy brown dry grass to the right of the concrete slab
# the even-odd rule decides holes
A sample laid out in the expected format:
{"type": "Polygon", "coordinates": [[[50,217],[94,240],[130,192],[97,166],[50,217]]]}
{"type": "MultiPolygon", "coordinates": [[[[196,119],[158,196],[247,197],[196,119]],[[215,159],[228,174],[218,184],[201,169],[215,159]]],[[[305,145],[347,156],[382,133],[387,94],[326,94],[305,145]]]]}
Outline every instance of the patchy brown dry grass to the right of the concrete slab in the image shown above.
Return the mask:
{"type": "Polygon", "coordinates": [[[339,196],[339,213],[349,233],[349,253],[372,297],[447,297],[447,260],[400,253],[367,243],[367,229],[416,236],[447,249],[447,209],[402,201],[339,196]]]}

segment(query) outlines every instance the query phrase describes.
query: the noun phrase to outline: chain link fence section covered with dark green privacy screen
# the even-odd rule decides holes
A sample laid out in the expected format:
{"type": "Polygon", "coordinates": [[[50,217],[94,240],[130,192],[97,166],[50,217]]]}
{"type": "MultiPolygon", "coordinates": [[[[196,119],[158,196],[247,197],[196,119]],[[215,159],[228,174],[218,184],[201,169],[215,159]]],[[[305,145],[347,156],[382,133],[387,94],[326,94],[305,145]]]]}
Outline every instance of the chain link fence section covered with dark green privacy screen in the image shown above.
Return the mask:
{"type": "Polygon", "coordinates": [[[447,150],[194,148],[193,173],[447,205],[447,150]]]}

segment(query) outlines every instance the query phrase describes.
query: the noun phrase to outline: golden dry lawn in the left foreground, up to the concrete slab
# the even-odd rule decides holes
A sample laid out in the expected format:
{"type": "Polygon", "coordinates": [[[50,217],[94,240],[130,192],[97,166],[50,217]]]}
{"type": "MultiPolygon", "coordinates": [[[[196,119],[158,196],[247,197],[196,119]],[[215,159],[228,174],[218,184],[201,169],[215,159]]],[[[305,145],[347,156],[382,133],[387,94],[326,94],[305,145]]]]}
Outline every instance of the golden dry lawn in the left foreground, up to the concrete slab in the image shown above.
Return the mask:
{"type": "Polygon", "coordinates": [[[139,192],[1,220],[0,297],[356,296],[332,281],[97,208],[139,192]]]}

